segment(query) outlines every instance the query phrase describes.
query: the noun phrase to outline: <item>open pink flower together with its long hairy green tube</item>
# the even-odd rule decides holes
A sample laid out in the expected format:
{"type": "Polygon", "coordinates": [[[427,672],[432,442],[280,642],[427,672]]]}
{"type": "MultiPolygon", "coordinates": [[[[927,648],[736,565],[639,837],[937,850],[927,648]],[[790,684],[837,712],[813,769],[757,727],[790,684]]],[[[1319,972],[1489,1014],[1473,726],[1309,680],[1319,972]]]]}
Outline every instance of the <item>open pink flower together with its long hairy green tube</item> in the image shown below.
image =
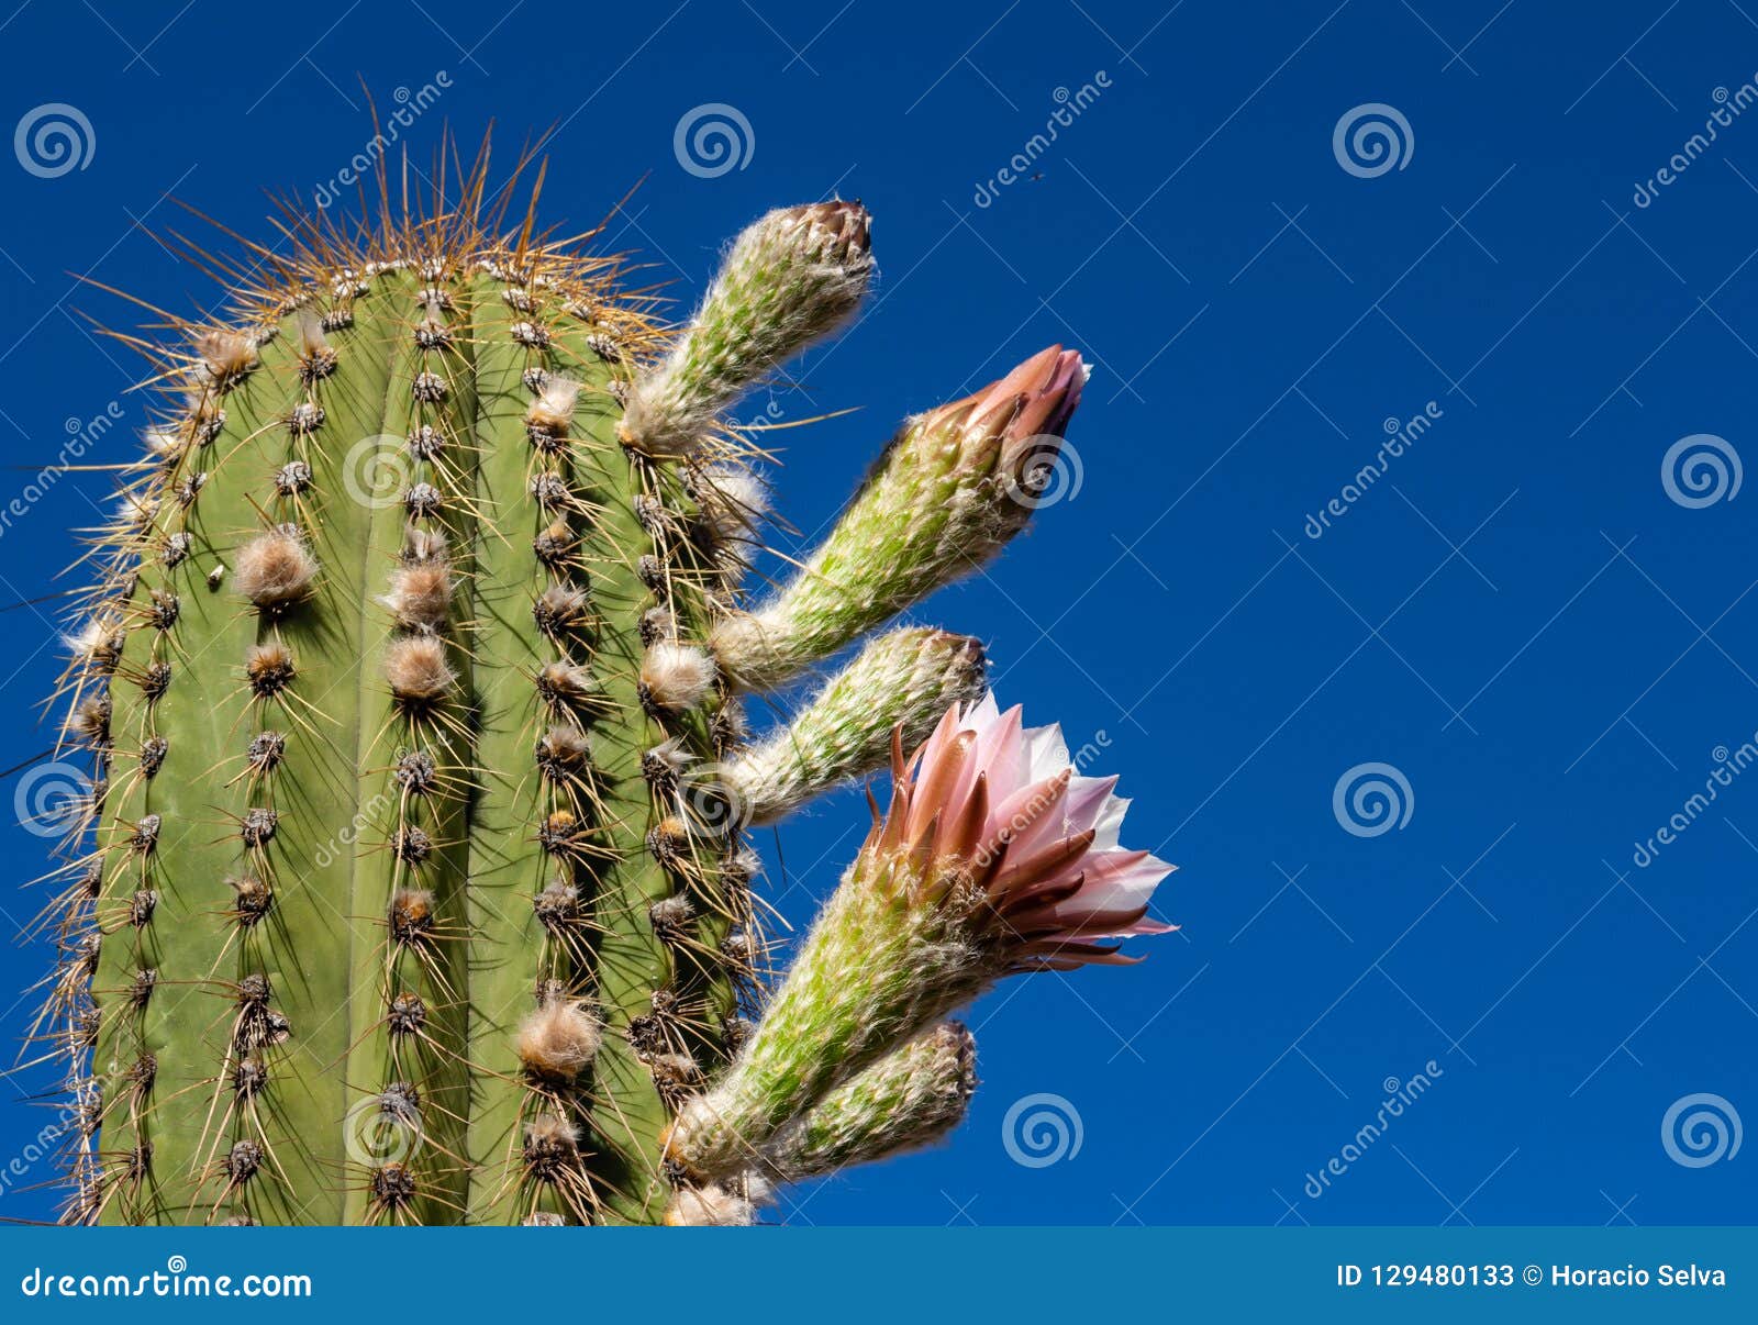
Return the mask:
{"type": "Polygon", "coordinates": [[[1123,965],[1164,933],[1148,901],[1171,866],[1125,851],[1116,778],[1069,764],[1060,728],[993,696],[953,706],[905,761],[890,812],[825,905],[728,1074],[679,1114],[666,1156],[716,1177],[789,1119],[1011,972],[1123,965]]]}

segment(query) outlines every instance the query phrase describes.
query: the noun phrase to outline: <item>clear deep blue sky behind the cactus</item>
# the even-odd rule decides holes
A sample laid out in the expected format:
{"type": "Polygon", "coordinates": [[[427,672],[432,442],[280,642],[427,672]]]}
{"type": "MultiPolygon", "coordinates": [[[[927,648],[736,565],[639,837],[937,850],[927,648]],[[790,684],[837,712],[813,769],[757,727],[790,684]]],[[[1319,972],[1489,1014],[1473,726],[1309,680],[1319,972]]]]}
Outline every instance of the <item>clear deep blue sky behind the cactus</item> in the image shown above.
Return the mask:
{"type": "MultiPolygon", "coordinates": [[[[311,199],[366,144],[362,81],[392,107],[445,74],[403,130],[422,156],[443,125],[494,119],[506,155],[548,132],[559,225],[640,185],[610,243],[680,304],[759,211],[860,197],[879,293],[774,402],[860,413],[775,434],[781,510],[819,529],[900,415],[1048,343],[1090,358],[1078,485],[914,617],[983,636],[1030,720],[1104,733],[1127,840],[1181,866],[1157,910],[1183,930],[1139,968],[986,998],[955,1142],[781,1218],[1753,1221],[1758,1160],[1679,1163],[1704,1156],[1663,1119],[1712,1095],[1758,1123],[1758,771],[1714,782],[1758,733],[1758,492],[1733,481],[1758,460],[1758,18],[1559,9],[28,2],[0,121],[65,104],[88,151],[56,174],[26,135],[0,162],[0,497],[67,420],[141,424],[137,362],[81,311],[134,315],[72,274],[207,302],[137,221],[188,228],[172,193],[269,237],[264,188],[311,199]],[[738,165],[675,149],[693,114],[733,125],[738,165]],[[1389,155],[1352,155],[1355,123],[1389,155]],[[1401,826],[1350,831],[1347,784],[1334,808],[1362,764],[1396,770],[1401,826]],[[1020,1163],[1046,1095],[1067,1153],[1020,1163]]],[[[5,520],[9,603],[56,587],[102,478],[5,520]]],[[[44,743],[49,606],[0,619],[5,766],[44,743]]],[[[863,822],[846,794],[784,829],[795,923],[863,822]]],[[[0,833],[23,919],[40,844],[0,833]]],[[[4,949],[5,1000],[42,968],[4,949]]],[[[0,1163],[40,1084],[0,1086],[0,1163]]],[[[0,1216],[49,1204],[5,1190],[0,1216]]]]}

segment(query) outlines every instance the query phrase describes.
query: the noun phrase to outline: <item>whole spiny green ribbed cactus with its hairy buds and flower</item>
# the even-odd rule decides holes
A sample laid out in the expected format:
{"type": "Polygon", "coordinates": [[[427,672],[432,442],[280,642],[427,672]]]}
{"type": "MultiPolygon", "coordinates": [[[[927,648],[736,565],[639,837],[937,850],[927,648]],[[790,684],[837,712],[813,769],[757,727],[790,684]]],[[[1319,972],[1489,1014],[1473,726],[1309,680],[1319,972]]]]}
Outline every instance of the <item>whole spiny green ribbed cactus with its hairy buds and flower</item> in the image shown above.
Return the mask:
{"type": "Polygon", "coordinates": [[[223,325],[169,320],[90,554],[40,1023],[65,1220],[751,1223],[946,1135],[976,1077],[941,1017],[1120,959],[1095,940],[1157,928],[1166,866],[983,698],[974,640],[879,634],[758,740],[742,703],[1018,532],[1085,367],[905,422],[749,603],[766,487],[726,411],[849,320],[865,209],[759,218],[668,330],[591,235],[536,235],[534,192],[490,211],[487,153],[452,206],[381,193],[253,246],[223,325]],[[888,761],[770,1000],[742,831],[888,761]]]}

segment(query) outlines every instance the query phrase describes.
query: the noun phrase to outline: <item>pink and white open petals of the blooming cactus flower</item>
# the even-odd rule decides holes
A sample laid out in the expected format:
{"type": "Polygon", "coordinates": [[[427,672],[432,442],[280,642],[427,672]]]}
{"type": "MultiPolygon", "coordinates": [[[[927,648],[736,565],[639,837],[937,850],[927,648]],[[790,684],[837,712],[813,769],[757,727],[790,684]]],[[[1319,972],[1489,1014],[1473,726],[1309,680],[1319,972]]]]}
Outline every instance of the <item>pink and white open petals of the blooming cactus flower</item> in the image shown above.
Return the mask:
{"type": "Polygon", "coordinates": [[[1013,970],[1123,965],[1108,938],[1167,933],[1148,901],[1173,872],[1125,851],[1129,801],[1115,777],[1069,763],[1062,729],[1027,728],[993,696],[953,706],[909,759],[893,743],[891,812],[868,845],[907,852],[930,896],[969,879],[981,889],[984,931],[1013,970]]]}

